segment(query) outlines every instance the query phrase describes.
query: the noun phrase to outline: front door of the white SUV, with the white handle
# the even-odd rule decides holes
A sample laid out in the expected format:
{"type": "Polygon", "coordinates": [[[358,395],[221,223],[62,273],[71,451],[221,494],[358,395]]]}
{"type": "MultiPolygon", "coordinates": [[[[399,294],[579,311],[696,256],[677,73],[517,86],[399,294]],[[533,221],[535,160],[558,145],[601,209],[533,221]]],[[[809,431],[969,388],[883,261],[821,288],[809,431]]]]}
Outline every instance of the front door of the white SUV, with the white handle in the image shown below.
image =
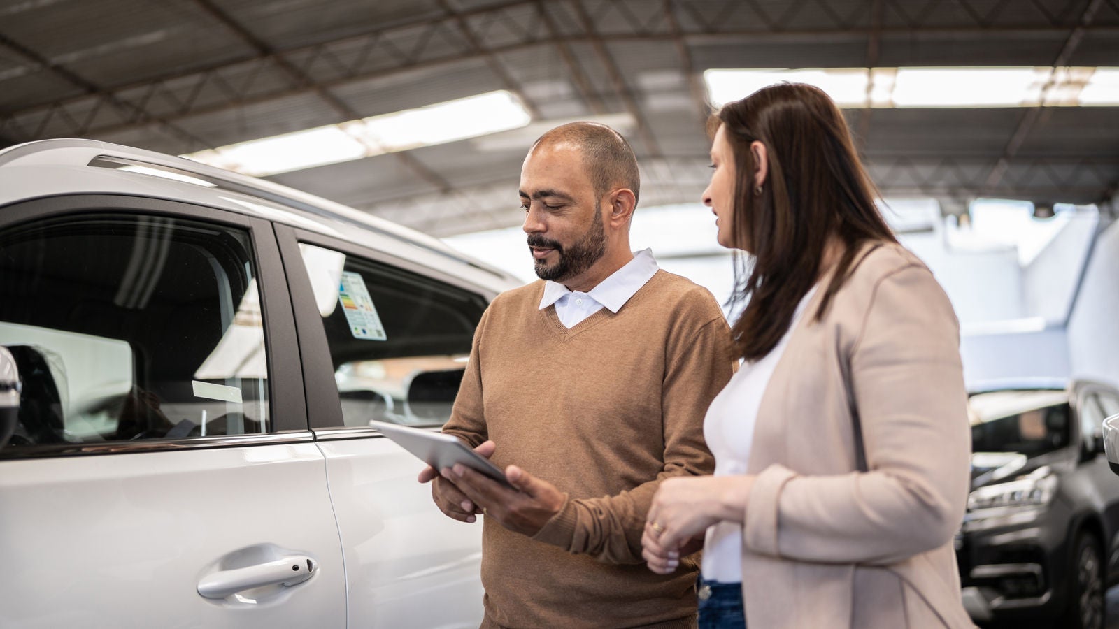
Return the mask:
{"type": "Polygon", "coordinates": [[[65,196],[0,208],[0,627],[346,627],[269,222],[65,196]]]}

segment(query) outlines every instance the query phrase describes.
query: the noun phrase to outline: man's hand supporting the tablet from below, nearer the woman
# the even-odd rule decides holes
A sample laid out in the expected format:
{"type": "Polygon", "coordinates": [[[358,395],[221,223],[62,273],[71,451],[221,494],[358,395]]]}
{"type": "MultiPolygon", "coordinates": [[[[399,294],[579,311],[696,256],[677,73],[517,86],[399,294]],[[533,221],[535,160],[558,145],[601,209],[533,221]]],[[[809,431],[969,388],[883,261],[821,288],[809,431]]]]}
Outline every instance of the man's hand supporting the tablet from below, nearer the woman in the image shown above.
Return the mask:
{"type": "Polygon", "coordinates": [[[505,477],[515,489],[509,489],[462,463],[457,463],[442,473],[466,494],[469,501],[481,506],[487,517],[496,519],[509,531],[529,537],[544,528],[567,499],[554,485],[517,466],[505,469],[505,477]]]}

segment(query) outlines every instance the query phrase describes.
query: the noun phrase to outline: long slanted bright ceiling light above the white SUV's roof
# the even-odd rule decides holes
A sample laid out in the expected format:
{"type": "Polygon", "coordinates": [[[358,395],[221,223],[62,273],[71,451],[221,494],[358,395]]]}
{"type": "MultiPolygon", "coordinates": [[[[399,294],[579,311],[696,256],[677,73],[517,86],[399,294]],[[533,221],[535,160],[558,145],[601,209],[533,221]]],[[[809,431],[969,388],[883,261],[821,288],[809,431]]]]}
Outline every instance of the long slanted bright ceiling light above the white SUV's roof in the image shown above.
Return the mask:
{"type": "Polygon", "coordinates": [[[181,157],[264,177],[497,133],[530,120],[516,96],[498,91],[181,157]]]}

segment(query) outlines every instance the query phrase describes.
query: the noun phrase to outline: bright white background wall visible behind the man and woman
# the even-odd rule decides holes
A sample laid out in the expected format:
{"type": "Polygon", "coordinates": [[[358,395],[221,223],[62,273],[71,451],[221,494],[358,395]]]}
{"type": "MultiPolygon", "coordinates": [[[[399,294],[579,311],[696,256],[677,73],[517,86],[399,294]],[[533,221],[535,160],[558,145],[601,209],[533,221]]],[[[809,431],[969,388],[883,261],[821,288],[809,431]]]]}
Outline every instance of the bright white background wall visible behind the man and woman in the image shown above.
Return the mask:
{"type": "MultiPolygon", "coordinates": [[[[909,232],[902,244],[929,265],[951,299],[970,384],[1070,374],[1119,383],[1119,227],[1112,226],[1100,242],[1064,329],[1098,220],[1093,210],[1037,220],[1028,207],[997,207],[987,213],[993,218],[967,229],[946,226],[935,205],[931,210],[925,205],[895,201],[884,214],[896,229],[909,232]]],[[[651,247],[662,269],[706,287],[725,304],[733,266],[715,232],[714,216],[698,204],[640,208],[631,243],[634,250],[651,247]]],[[[535,280],[519,227],[446,241],[525,282],[535,280]]]]}

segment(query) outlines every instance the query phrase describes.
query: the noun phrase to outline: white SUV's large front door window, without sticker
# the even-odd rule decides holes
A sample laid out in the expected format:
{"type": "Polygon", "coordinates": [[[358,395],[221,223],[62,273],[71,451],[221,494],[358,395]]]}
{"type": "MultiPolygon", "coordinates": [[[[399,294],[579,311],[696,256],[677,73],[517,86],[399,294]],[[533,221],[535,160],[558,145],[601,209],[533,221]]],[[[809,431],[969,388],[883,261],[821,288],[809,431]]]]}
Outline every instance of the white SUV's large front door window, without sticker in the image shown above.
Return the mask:
{"type": "Polygon", "coordinates": [[[9,448],[269,430],[245,231],[138,215],[0,233],[0,345],[22,381],[9,448]]]}

